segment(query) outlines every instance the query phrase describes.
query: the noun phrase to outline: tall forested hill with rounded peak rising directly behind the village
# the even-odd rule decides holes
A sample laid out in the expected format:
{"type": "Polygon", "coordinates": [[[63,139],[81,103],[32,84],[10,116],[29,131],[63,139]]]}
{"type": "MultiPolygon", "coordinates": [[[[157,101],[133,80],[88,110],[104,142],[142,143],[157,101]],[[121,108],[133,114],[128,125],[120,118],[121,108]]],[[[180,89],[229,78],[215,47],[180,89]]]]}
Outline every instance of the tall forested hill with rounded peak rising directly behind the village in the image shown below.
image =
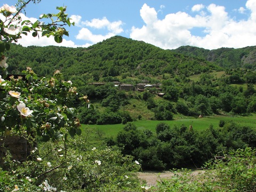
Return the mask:
{"type": "Polygon", "coordinates": [[[9,73],[19,74],[29,66],[39,76],[51,75],[54,70],[60,69],[69,78],[83,74],[118,76],[127,72],[135,76],[164,73],[188,76],[221,69],[203,58],[174,53],[121,36],[111,37],[87,48],[12,45],[7,55],[9,73]]]}

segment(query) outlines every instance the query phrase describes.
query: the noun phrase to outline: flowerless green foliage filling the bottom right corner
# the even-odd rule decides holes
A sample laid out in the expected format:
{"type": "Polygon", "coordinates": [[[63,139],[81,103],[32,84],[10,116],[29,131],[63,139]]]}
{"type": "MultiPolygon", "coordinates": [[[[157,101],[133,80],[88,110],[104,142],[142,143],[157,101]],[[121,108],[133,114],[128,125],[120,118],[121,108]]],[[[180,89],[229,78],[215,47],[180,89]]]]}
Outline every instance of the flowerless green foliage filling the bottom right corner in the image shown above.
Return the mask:
{"type": "Polygon", "coordinates": [[[191,174],[175,172],[172,179],[161,179],[152,191],[255,191],[256,149],[232,151],[213,163],[210,170],[191,174]]]}

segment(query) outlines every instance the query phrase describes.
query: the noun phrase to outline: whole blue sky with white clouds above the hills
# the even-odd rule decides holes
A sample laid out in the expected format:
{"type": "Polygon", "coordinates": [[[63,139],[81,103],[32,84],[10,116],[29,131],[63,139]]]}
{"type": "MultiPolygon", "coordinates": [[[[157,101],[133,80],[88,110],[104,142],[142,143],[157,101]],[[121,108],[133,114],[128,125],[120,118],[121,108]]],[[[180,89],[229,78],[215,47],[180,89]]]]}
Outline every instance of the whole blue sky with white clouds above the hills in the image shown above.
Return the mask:
{"type": "MultiPolygon", "coordinates": [[[[15,5],[17,1],[3,0],[15,5]]],[[[2,5],[1,5],[2,6],[2,5]]],[[[67,6],[76,25],[61,44],[52,38],[23,37],[19,43],[87,47],[114,35],[144,41],[162,49],[182,45],[218,49],[256,45],[256,0],[42,0],[26,8],[28,19],[67,6]]]]}

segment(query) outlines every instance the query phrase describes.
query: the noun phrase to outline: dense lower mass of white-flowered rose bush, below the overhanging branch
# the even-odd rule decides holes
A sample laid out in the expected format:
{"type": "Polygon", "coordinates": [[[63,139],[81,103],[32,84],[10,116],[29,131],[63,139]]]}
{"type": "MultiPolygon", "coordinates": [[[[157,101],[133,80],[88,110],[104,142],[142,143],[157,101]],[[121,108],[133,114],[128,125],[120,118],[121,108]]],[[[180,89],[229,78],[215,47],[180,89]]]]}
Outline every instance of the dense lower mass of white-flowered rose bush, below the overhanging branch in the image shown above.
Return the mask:
{"type": "MultiPolygon", "coordinates": [[[[22,76],[1,78],[0,130],[3,135],[19,134],[44,140],[81,134],[73,101],[76,87],[56,71],[51,78],[38,78],[30,68],[22,76]]],[[[83,99],[83,98],[82,98],[83,99]]],[[[85,102],[87,98],[84,97],[85,102]]]]}

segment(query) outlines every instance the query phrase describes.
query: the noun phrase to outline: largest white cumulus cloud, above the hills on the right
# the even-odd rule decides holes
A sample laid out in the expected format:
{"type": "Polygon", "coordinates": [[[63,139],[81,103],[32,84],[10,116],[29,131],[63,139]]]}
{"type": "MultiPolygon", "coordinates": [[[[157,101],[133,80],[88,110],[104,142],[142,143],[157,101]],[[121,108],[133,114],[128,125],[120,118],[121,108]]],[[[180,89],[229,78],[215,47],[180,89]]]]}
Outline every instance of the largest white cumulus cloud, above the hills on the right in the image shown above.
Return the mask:
{"type": "Polygon", "coordinates": [[[250,17],[242,21],[230,18],[225,7],[215,4],[193,6],[191,11],[199,12],[195,16],[177,12],[167,14],[161,20],[153,7],[144,4],[140,16],[145,25],[132,27],[130,38],[163,49],[176,49],[182,45],[205,49],[252,46],[256,44],[256,0],[248,0],[245,6],[250,17]],[[201,34],[193,35],[193,29],[200,29],[201,34]]]}

